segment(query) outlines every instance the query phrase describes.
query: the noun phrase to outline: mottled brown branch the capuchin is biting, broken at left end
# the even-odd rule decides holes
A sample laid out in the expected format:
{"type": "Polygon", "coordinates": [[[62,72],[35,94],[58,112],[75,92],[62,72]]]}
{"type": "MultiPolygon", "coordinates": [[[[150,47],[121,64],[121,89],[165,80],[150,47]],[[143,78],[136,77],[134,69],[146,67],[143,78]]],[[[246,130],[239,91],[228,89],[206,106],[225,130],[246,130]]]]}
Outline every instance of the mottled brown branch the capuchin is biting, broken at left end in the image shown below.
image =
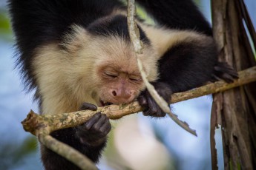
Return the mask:
{"type": "MultiPolygon", "coordinates": [[[[174,93],[171,95],[171,103],[186,101],[191,98],[198,98],[203,95],[210,95],[216,92],[223,92],[227,89],[232,89],[236,86],[242,86],[256,81],[256,67],[252,67],[238,72],[239,78],[232,84],[227,84],[225,81],[217,81],[207,84],[196,89],[191,89],[186,92],[174,93]]],[[[141,112],[143,108],[137,101],[129,104],[110,105],[98,107],[96,111],[82,110],[78,112],[62,113],[54,115],[49,113],[46,115],[37,115],[32,110],[27,115],[27,118],[22,121],[25,131],[38,136],[40,133],[50,134],[58,129],[78,126],[90,119],[96,112],[105,113],[110,119],[119,119],[125,115],[131,115],[141,112]]]]}

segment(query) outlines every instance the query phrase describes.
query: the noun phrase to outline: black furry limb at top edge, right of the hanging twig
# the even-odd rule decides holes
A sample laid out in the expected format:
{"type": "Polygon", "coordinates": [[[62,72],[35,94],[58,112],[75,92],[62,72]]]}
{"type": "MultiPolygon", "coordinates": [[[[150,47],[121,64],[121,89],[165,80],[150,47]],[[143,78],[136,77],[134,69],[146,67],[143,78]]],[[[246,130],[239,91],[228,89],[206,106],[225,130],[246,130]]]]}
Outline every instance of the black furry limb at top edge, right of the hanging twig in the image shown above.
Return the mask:
{"type": "Polygon", "coordinates": [[[137,2],[161,25],[212,35],[209,23],[191,0],[137,0],[137,2]]]}

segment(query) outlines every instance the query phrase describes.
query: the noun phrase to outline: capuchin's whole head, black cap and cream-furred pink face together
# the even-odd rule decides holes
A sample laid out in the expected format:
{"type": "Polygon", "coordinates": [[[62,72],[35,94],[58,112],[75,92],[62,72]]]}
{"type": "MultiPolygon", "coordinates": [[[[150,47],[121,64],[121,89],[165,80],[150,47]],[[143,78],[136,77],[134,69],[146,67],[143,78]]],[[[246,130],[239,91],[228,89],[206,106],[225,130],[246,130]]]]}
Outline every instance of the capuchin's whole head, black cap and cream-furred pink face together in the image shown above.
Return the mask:
{"type": "MultiPolygon", "coordinates": [[[[76,88],[90,95],[98,106],[130,103],[145,89],[124,18],[121,17],[122,21],[119,21],[117,17],[118,21],[110,23],[103,20],[103,24],[98,21],[88,30],[73,27],[76,38],[69,38],[71,43],[65,44],[75,55],[73,75],[76,83],[79,82],[76,88]]],[[[140,32],[144,49],[138,57],[148,81],[156,81],[157,52],[145,33],[140,32]]]]}

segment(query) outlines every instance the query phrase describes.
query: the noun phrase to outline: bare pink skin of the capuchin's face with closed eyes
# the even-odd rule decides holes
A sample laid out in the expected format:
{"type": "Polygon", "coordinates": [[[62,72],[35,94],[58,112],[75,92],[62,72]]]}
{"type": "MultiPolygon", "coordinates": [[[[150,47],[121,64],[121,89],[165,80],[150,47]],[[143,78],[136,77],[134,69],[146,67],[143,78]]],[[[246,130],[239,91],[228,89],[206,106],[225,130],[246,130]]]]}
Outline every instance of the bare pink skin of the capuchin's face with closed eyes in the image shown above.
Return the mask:
{"type": "Polygon", "coordinates": [[[99,104],[105,106],[111,103],[131,103],[144,89],[140,72],[130,73],[130,69],[113,66],[99,69],[99,104]]]}

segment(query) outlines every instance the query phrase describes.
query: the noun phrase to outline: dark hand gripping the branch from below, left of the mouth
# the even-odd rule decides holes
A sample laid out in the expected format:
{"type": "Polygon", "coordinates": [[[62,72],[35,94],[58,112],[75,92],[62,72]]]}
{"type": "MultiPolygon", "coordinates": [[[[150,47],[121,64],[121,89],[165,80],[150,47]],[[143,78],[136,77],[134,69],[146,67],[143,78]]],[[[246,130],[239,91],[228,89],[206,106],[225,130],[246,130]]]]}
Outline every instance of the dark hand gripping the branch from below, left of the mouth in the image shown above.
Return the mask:
{"type": "MultiPolygon", "coordinates": [[[[81,109],[96,111],[97,107],[90,103],[83,103],[81,109]]],[[[80,126],[76,126],[76,135],[81,143],[89,146],[99,146],[107,140],[108,132],[111,131],[109,118],[100,112],[80,126]]]]}

